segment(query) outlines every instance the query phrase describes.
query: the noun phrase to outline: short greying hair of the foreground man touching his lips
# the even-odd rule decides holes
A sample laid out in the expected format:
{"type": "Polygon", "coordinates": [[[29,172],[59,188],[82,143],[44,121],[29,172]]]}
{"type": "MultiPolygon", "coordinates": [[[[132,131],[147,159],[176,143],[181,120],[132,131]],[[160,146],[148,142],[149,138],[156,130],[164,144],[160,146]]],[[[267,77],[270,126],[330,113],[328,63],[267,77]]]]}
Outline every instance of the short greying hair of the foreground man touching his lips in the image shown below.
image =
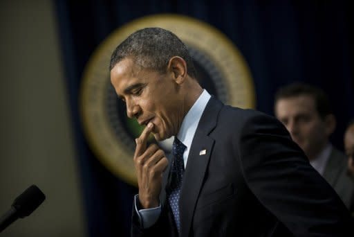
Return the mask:
{"type": "Polygon", "coordinates": [[[115,64],[129,57],[143,68],[166,73],[169,60],[174,56],[185,60],[188,75],[195,78],[196,71],[187,46],[174,33],[162,28],[143,28],[129,35],[115,48],[109,71],[115,64]]]}

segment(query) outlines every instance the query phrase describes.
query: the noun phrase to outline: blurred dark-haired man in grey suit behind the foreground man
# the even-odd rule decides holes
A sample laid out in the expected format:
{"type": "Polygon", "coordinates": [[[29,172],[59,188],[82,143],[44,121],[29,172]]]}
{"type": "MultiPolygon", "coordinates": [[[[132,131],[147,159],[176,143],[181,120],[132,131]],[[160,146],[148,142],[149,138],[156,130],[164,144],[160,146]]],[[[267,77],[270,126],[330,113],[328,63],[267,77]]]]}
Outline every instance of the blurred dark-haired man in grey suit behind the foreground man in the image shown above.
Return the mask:
{"type": "Polygon", "coordinates": [[[353,211],[354,182],[347,173],[347,158],[329,142],[336,122],[328,96],[322,89],[295,82],[277,91],[274,111],[313,168],[353,211]]]}

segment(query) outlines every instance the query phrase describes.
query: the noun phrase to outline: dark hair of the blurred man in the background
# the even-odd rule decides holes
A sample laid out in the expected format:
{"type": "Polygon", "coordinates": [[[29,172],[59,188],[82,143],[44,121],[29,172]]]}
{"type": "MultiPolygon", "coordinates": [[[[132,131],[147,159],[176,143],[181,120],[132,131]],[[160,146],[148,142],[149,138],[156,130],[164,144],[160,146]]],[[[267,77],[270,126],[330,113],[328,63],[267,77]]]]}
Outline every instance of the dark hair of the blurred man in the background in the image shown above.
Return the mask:
{"type": "Polygon", "coordinates": [[[332,107],[330,105],[330,100],[324,91],[318,87],[313,87],[311,85],[295,82],[290,85],[280,87],[275,94],[275,103],[280,99],[294,98],[298,96],[311,96],[315,100],[315,106],[319,116],[324,119],[328,114],[333,114],[332,107]]]}

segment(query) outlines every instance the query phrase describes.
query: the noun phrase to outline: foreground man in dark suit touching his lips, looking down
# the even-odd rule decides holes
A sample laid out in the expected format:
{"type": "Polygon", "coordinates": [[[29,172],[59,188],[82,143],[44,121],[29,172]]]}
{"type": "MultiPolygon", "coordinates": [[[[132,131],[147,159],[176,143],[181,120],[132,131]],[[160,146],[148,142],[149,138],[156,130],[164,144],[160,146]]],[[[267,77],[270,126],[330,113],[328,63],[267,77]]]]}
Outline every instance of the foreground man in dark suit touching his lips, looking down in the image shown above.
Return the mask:
{"type": "Polygon", "coordinates": [[[346,236],[351,220],[277,119],[223,105],[196,80],[176,35],[138,30],[112,54],[111,82],[147,125],[133,157],[132,236],[346,236]],[[173,156],[155,144],[175,136],[173,156]]]}

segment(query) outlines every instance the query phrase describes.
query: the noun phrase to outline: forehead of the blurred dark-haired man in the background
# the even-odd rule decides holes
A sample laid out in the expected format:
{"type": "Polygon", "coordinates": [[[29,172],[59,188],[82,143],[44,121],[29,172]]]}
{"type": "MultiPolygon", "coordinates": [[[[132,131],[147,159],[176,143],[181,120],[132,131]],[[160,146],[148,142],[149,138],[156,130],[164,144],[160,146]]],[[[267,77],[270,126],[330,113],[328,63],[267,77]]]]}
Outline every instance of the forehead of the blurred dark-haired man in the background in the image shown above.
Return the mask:
{"type": "Polygon", "coordinates": [[[281,98],[277,100],[275,112],[282,116],[316,113],[315,99],[308,95],[281,98]]]}

